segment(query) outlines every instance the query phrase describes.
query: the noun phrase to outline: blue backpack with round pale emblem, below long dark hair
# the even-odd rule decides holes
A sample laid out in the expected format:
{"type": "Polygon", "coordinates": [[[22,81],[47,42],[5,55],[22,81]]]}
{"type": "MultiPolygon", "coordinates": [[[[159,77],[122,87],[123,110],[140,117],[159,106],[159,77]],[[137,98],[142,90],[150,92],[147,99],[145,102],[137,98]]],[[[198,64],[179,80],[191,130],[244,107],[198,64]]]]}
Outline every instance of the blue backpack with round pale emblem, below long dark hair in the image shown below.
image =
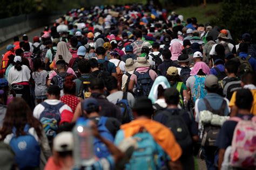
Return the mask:
{"type": "Polygon", "coordinates": [[[14,137],[10,140],[10,147],[15,152],[15,161],[19,169],[28,169],[29,167],[39,167],[40,164],[40,146],[35,137],[29,134],[30,126],[24,127],[25,135],[16,137],[16,128],[12,128],[14,137]]]}

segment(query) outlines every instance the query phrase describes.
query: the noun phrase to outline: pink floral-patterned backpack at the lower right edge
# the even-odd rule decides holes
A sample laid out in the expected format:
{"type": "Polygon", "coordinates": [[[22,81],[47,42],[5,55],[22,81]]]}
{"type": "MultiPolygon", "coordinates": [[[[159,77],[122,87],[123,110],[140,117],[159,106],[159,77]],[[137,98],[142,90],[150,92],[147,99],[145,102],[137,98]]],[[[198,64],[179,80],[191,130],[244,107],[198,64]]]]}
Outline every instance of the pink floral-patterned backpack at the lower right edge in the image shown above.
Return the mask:
{"type": "Polygon", "coordinates": [[[230,163],[232,167],[256,167],[256,116],[249,121],[231,117],[238,122],[235,126],[230,163]]]}

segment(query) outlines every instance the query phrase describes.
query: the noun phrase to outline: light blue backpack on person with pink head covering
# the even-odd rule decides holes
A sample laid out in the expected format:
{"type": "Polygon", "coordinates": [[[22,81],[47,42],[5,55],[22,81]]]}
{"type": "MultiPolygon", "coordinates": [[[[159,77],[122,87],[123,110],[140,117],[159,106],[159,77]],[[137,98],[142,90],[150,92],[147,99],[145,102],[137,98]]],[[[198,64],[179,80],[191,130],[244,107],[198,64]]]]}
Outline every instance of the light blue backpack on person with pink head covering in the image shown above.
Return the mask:
{"type": "Polygon", "coordinates": [[[194,81],[194,88],[193,88],[193,94],[192,99],[195,103],[198,98],[204,98],[207,94],[207,91],[205,89],[205,77],[206,76],[194,76],[196,78],[196,81],[194,81]]]}

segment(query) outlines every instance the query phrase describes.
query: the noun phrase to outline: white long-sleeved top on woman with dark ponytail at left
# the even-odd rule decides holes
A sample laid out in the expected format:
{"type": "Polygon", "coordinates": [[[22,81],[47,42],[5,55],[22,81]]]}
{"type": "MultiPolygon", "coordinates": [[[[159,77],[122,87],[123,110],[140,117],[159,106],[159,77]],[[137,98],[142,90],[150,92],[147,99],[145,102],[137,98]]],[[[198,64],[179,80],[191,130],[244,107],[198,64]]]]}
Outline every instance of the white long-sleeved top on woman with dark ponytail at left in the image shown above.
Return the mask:
{"type": "Polygon", "coordinates": [[[22,65],[22,69],[18,71],[12,66],[8,73],[8,82],[10,84],[28,82],[30,79],[30,69],[28,66],[22,65]]]}

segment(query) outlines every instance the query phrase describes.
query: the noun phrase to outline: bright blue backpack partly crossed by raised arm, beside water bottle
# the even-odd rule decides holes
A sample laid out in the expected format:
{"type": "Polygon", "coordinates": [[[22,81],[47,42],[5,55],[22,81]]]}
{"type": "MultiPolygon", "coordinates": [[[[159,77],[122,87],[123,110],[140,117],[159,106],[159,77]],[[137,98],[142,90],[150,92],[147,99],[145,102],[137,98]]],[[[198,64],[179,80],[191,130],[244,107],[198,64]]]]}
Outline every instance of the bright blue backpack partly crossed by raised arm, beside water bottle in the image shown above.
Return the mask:
{"type": "MultiPolygon", "coordinates": [[[[110,131],[106,128],[107,117],[99,117],[99,122],[97,124],[98,131],[100,136],[104,137],[105,139],[114,142],[114,137],[110,133],[110,131]]],[[[102,143],[98,138],[94,138],[93,146],[95,148],[95,154],[98,158],[106,158],[110,155],[109,150],[107,149],[106,145],[102,143]]]]}

